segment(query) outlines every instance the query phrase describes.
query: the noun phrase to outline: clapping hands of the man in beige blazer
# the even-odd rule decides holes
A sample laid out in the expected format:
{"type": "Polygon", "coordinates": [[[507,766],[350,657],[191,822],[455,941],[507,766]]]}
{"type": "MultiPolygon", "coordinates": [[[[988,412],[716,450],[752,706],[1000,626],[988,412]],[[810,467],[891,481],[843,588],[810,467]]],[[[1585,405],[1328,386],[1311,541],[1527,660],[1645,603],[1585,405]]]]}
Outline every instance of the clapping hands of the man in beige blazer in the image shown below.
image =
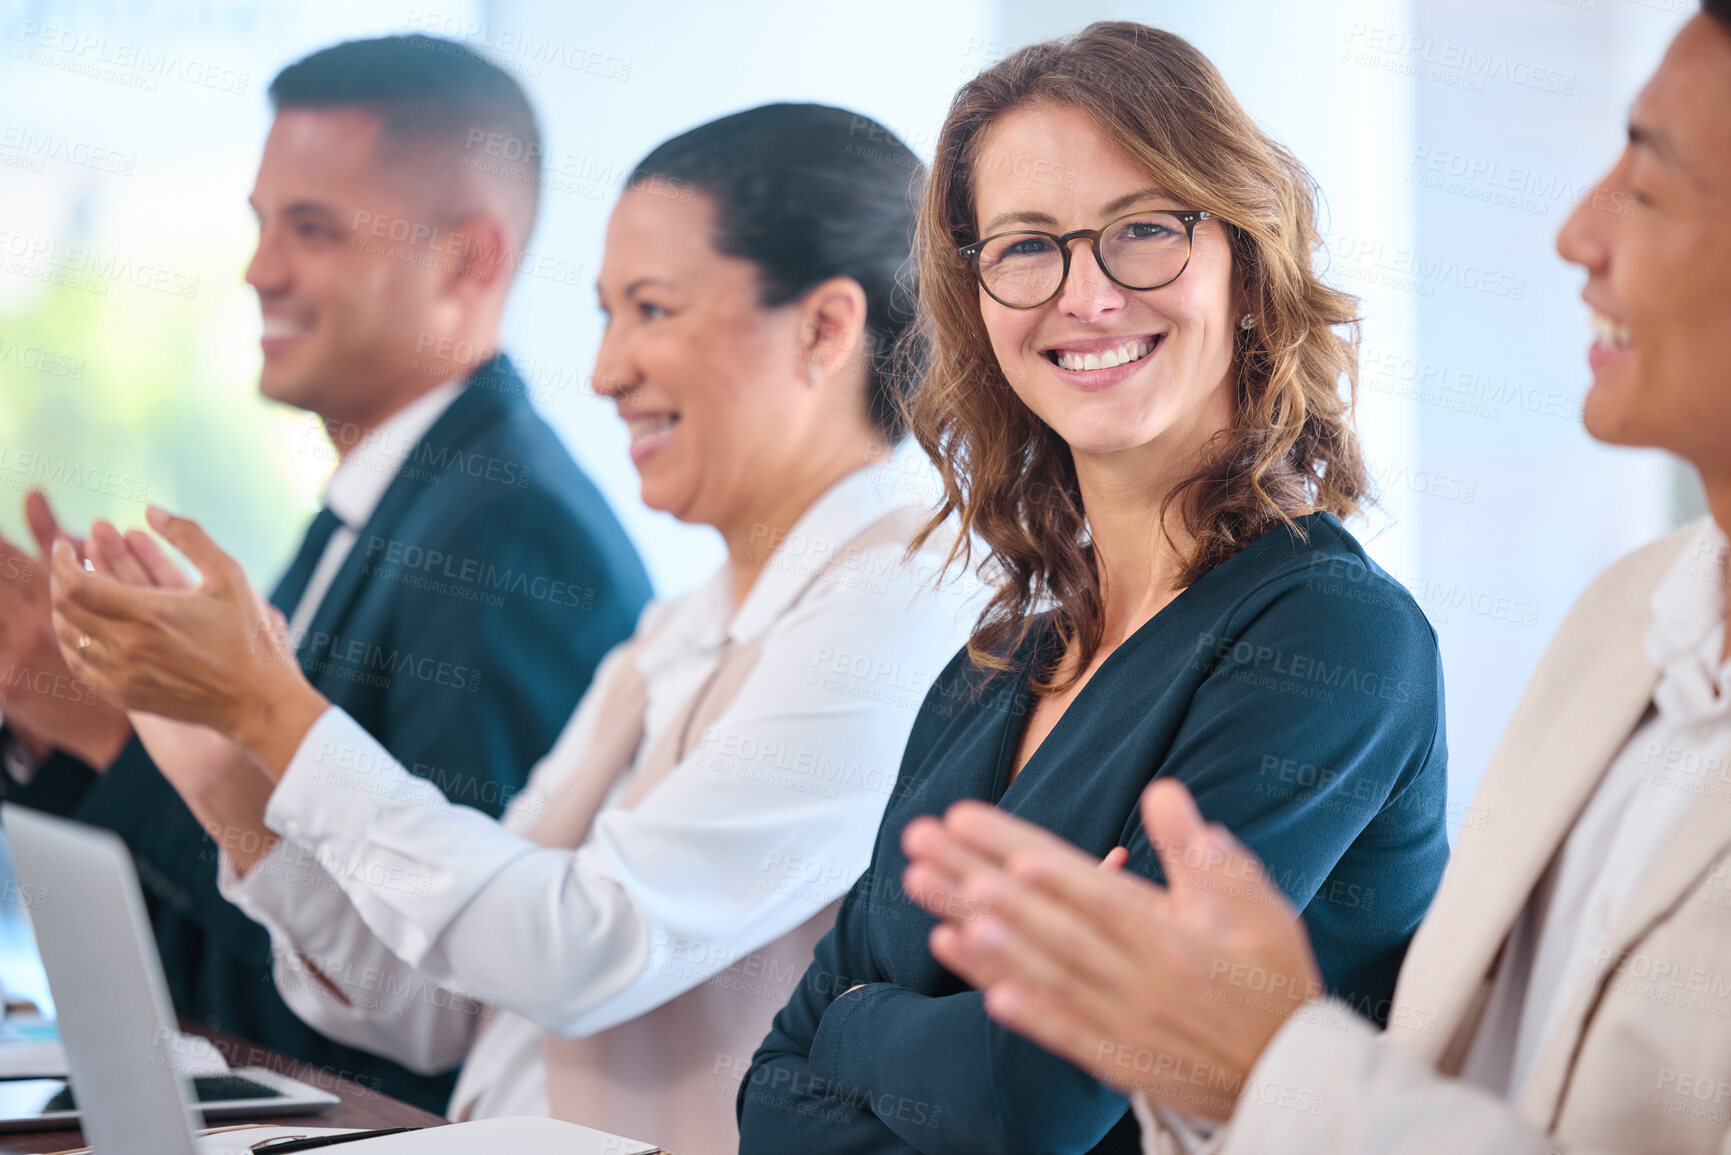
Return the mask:
{"type": "Polygon", "coordinates": [[[1167,885],[983,802],[907,824],[907,894],[931,952],[997,1022],[1125,1093],[1229,1119],[1286,1018],[1322,992],[1297,913],[1253,854],[1158,779],[1142,826],[1167,885]],[[956,900],[962,899],[962,900],[956,900]],[[1245,999],[1243,975],[1274,977],[1245,999]],[[1196,1094],[1198,1072],[1208,1087],[1196,1094]]]}

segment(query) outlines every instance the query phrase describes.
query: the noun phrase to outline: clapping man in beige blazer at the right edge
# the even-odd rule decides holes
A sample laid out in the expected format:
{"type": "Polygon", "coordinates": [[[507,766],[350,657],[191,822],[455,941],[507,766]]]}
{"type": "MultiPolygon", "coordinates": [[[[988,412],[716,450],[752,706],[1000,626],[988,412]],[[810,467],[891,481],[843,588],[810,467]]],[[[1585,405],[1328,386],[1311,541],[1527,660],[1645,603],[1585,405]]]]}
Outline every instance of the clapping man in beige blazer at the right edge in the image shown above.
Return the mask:
{"type": "Polygon", "coordinates": [[[1707,0],[1565,225],[1596,438],[1670,450],[1712,516],[1570,611],[1374,1029],[1321,994],[1260,864],[1175,783],[1168,887],[962,803],[911,894],[987,1010],[1134,1096],[1146,1152],[1731,1155],[1731,2],[1707,0]]]}

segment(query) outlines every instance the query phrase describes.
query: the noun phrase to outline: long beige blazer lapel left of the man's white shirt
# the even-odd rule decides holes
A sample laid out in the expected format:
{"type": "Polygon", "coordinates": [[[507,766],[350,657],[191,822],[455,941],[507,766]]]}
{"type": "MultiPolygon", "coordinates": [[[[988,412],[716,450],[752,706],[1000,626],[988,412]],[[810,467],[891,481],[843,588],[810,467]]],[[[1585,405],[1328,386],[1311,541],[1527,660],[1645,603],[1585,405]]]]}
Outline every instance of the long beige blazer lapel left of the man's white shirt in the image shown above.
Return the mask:
{"type": "Polygon", "coordinates": [[[1591,653],[1546,653],[1412,937],[1388,1034],[1445,1074],[1477,1029],[1515,919],[1653,698],[1658,670],[1643,649],[1650,590],[1601,608],[1591,653]]]}

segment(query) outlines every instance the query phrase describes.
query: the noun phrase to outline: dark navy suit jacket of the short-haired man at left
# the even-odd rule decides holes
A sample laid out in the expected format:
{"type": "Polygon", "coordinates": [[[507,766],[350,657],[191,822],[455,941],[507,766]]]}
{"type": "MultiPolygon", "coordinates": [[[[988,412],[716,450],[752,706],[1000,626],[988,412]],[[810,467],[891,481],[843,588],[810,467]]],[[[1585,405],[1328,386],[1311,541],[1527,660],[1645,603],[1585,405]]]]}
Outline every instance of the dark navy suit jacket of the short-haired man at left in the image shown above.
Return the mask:
{"type": "MultiPolygon", "coordinates": [[[[299,661],[405,767],[497,816],[647,597],[613,511],[500,357],[403,459],[299,661]]],[[[88,769],[68,764],[33,793],[132,847],[182,1015],[443,1112],[454,1075],[332,1042],[282,1003],[268,933],[222,899],[216,843],[137,739],[81,790],[88,769]]]]}

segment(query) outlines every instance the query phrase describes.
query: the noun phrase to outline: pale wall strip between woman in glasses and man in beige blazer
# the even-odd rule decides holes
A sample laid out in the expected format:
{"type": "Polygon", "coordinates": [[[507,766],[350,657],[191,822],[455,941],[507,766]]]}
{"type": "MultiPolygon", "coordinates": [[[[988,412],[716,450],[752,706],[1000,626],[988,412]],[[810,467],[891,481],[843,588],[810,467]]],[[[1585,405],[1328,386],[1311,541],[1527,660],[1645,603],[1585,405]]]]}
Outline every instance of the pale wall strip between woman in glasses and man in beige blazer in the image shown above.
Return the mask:
{"type": "Polygon", "coordinates": [[[1411,55],[1433,80],[1414,85],[1412,152],[1400,158],[1418,249],[1494,268],[1522,289],[1437,281],[1418,308],[1419,364],[1432,376],[1416,464],[1449,485],[1423,499],[1421,561],[1400,577],[1442,636],[1459,800],[1575,596],[1674,518],[1674,468],[1662,455],[1606,448],[1580,428],[1584,275],[1554,239],[1615,159],[1629,102],[1695,7],[1418,3],[1425,47],[1411,55]]]}

